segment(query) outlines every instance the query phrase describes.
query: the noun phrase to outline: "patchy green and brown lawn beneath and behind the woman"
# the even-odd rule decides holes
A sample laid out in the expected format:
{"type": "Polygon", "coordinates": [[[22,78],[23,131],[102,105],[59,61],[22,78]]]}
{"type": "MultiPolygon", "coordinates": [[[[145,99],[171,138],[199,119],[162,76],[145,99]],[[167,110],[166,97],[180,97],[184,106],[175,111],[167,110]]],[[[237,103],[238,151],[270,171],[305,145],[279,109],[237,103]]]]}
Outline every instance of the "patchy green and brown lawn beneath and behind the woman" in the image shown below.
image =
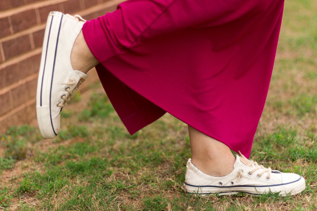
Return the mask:
{"type": "Polygon", "coordinates": [[[100,84],[62,112],[58,138],[36,121],[0,135],[4,210],[317,210],[317,1],[287,0],[267,102],[251,152],[305,177],[301,195],[185,194],[187,125],[170,114],[132,136],[100,84]]]}

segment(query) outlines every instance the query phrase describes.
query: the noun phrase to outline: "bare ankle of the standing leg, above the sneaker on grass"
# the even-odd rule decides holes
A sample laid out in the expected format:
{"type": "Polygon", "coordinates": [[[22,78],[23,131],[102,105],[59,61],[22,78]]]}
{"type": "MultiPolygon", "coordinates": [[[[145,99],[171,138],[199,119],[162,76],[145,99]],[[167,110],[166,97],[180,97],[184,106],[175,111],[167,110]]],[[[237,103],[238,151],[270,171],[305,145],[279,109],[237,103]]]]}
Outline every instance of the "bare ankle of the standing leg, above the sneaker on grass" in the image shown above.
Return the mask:
{"type": "Polygon", "coordinates": [[[214,177],[223,177],[233,170],[236,158],[227,145],[190,125],[188,132],[191,141],[191,162],[200,171],[214,177]]]}

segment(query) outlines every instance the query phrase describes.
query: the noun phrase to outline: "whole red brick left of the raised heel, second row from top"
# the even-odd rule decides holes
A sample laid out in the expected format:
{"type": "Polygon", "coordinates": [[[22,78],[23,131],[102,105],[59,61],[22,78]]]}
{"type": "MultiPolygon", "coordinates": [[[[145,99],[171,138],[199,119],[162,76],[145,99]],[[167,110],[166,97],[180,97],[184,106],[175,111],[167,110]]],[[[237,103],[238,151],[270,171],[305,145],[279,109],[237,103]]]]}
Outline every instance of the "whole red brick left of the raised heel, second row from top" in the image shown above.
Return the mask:
{"type": "Polygon", "coordinates": [[[14,32],[19,32],[37,24],[36,13],[34,9],[11,16],[12,27],[14,32]]]}

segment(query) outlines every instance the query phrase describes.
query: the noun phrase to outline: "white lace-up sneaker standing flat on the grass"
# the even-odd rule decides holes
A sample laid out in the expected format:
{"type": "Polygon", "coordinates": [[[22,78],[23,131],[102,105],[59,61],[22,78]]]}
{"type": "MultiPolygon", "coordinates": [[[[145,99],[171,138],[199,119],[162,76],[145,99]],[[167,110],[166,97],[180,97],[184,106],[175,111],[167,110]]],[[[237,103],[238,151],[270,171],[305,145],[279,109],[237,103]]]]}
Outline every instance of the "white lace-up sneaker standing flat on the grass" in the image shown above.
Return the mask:
{"type": "MultiPolygon", "coordinates": [[[[241,154],[241,153],[240,153],[241,154]]],[[[233,171],[224,177],[204,174],[187,161],[184,189],[187,193],[207,195],[232,195],[239,192],[261,195],[279,192],[279,195],[299,194],[305,189],[305,179],[293,173],[281,173],[264,168],[255,161],[248,160],[242,154],[236,155],[233,171]]]]}

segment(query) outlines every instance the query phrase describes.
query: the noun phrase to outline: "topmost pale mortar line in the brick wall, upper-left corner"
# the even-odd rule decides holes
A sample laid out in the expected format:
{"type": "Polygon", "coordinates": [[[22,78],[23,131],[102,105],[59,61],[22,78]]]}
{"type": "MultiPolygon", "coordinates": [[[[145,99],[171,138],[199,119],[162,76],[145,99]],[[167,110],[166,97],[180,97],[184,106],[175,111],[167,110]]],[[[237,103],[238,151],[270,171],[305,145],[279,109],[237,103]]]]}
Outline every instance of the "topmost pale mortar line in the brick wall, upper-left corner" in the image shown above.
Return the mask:
{"type": "Polygon", "coordinates": [[[57,4],[57,3],[63,3],[67,2],[69,0],[49,0],[49,1],[40,1],[40,2],[35,2],[35,3],[30,3],[21,7],[17,8],[11,8],[8,10],[1,11],[0,13],[0,18],[6,17],[6,16],[12,16],[21,12],[24,12],[29,9],[36,9],[39,7],[44,7],[44,6],[49,6],[52,4],[57,4]]]}

